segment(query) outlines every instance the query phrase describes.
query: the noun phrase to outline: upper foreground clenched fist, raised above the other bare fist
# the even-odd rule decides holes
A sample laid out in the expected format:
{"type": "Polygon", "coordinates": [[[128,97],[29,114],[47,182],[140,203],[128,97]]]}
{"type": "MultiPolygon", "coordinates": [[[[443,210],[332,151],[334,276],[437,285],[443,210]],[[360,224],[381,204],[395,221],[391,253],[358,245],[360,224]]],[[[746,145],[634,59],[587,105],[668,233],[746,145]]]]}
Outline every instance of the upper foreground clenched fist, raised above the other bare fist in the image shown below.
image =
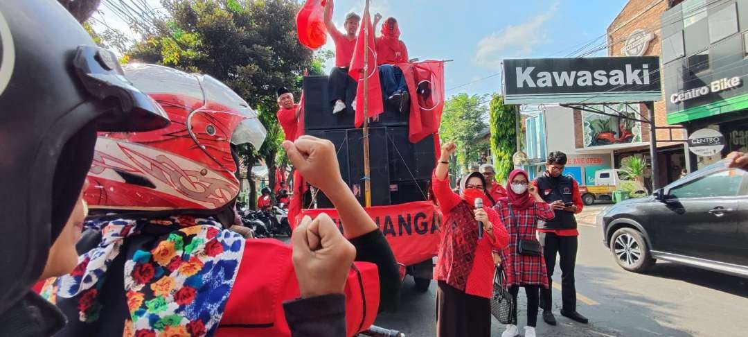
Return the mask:
{"type": "Polygon", "coordinates": [[[298,173],[325,194],[345,185],[340,177],[335,145],[327,139],[301,136],[295,142],[283,142],[283,148],[298,173]]]}

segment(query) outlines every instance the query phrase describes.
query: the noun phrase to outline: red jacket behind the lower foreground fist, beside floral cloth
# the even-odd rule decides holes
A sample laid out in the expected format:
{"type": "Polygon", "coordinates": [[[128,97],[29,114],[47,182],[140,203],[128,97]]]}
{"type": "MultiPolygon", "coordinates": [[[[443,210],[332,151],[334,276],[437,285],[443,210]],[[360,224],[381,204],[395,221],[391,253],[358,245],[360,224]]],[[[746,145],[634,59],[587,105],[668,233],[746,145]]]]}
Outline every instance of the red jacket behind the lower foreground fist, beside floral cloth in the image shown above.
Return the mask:
{"type": "MultiPolygon", "coordinates": [[[[278,240],[247,240],[216,337],[291,336],[283,312],[283,302],[299,296],[291,253],[291,246],[278,240]]],[[[355,267],[358,272],[351,269],[345,289],[347,336],[374,324],[379,308],[376,265],[355,262],[355,267]]]]}

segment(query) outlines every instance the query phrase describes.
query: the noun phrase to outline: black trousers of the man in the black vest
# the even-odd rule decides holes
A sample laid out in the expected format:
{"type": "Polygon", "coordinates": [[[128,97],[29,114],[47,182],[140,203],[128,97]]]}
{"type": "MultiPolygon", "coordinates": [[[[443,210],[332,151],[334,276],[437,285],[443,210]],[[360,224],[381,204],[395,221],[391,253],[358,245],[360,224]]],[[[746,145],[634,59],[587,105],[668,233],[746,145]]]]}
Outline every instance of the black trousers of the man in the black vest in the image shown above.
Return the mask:
{"type": "Polygon", "coordinates": [[[553,297],[551,296],[552,276],[556,269],[556,255],[559,255],[561,267],[561,299],[562,310],[574,312],[577,310],[577,288],[574,287],[574,267],[577,264],[577,245],[579,240],[576,236],[560,237],[555,233],[539,233],[540,243],[545,255],[545,267],[548,269],[548,289],[540,291],[540,307],[543,310],[553,309],[553,297]]]}

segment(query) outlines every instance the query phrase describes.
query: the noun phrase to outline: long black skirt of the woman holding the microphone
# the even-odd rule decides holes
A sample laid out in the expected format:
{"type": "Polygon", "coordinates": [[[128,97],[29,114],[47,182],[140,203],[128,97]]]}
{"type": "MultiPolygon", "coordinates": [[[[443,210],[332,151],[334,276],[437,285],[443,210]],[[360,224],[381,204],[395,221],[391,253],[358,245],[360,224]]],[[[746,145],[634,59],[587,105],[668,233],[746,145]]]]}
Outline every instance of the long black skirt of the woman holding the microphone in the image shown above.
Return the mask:
{"type": "Polygon", "coordinates": [[[491,337],[491,300],[437,285],[436,337],[491,337]]]}

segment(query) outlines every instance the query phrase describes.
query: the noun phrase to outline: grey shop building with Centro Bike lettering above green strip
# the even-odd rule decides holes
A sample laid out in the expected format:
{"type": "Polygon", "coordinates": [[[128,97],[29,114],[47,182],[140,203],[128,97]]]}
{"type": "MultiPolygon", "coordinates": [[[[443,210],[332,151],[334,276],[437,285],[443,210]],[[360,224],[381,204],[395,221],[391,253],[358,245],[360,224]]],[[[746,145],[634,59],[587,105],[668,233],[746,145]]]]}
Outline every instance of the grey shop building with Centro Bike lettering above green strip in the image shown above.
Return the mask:
{"type": "Polygon", "coordinates": [[[689,154],[691,168],[702,168],[748,151],[748,0],[670,2],[662,15],[667,122],[724,137],[717,154],[689,154]]]}

